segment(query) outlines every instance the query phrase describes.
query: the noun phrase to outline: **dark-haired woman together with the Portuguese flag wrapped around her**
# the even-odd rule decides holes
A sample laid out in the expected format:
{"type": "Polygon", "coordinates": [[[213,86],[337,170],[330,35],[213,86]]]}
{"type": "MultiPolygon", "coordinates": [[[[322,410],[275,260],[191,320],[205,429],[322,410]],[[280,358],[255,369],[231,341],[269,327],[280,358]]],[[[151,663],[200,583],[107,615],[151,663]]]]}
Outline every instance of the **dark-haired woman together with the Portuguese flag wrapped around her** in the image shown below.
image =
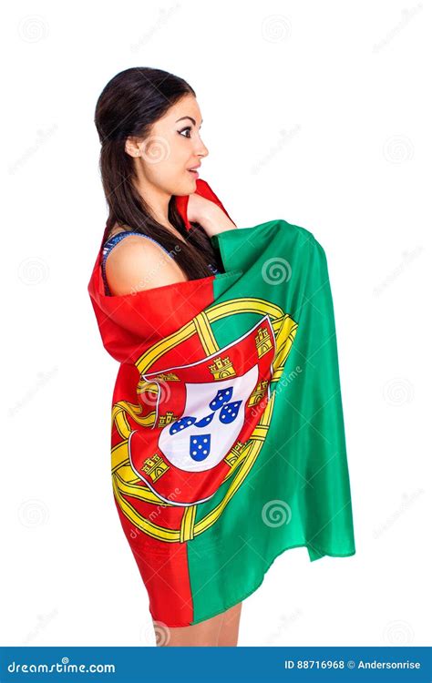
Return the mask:
{"type": "Polygon", "coordinates": [[[237,645],[242,601],[290,548],[355,554],[324,248],[283,219],[235,229],[197,180],[201,124],[156,69],[98,98],[109,216],[88,292],[120,362],[113,493],[159,646],[237,645]]]}

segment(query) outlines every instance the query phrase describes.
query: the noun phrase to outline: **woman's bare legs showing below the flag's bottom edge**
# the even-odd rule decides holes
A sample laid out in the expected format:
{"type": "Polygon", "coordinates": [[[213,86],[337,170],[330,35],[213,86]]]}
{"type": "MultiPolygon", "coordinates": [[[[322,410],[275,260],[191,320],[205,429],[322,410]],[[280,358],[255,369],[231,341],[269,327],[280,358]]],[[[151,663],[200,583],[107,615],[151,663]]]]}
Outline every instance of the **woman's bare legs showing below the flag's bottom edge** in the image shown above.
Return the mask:
{"type": "Polygon", "coordinates": [[[156,645],[159,647],[217,647],[225,612],[189,627],[167,627],[153,621],[156,645]]]}

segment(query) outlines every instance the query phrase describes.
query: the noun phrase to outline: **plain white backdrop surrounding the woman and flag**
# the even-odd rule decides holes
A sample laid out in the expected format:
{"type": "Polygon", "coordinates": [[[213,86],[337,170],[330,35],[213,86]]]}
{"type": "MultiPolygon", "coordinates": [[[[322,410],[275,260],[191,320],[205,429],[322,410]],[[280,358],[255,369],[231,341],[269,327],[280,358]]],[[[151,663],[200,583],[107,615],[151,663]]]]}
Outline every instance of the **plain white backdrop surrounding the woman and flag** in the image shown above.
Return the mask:
{"type": "Polygon", "coordinates": [[[8,12],[2,645],[154,646],[111,491],[118,363],[87,293],[107,219],[94,110],[129,66],[195,89],[201,178],[239,227],[285,219],[327,255],[356,555],[278,557],[243,602],[239,645],[427,645],[430,3],[8,12]]]}

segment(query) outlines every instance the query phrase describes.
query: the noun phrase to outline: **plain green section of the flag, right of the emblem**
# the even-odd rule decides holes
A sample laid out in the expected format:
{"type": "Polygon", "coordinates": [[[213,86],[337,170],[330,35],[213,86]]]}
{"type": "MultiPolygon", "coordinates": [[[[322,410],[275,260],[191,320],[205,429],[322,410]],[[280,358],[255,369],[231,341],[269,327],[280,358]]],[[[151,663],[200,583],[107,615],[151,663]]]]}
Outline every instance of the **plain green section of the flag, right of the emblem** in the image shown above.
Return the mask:
{"type": "MultiPolygon", "coordinates": [[[[211,306],[237,298],[263,301],[280,307],[298,328],[283,372],[271,384],[273,413],[252,468],[217,521],[188,542],[192,623],[250,595],[285,549],[303,545],[311,561],[355,553],[324,250],[311,232],[284,220],[232,229],[212,240],[221,249],[227,275],[215,277],[211,306]],[[208,547],[217,552],[207,554],[208,547]]],[[[215,321],[211,330],[222,347],[260,317],[236,314],[215,321]]],[[[231,479],[197,505],[196,521],[223,505],[231,479]]]]}

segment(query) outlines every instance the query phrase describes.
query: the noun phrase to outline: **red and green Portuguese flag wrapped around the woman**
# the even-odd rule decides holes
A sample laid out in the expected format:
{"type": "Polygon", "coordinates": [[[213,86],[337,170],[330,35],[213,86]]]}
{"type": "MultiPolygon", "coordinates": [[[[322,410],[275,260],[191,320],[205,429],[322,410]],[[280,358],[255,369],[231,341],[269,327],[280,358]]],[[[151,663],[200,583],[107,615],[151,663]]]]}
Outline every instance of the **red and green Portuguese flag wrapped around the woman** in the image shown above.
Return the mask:
{"type": "MultiPolygon", "coordinates": [[[[202,179],[197,192],[226,213],[202,179]]],[[[101,244],[88,284],[120,363],[115,505],[151,617],[168,627],[242,601],[289,548],[355,554],[323,247],[283,219],[211,242],[224,272],[125,296],[104,293],[101,244]]]]}

